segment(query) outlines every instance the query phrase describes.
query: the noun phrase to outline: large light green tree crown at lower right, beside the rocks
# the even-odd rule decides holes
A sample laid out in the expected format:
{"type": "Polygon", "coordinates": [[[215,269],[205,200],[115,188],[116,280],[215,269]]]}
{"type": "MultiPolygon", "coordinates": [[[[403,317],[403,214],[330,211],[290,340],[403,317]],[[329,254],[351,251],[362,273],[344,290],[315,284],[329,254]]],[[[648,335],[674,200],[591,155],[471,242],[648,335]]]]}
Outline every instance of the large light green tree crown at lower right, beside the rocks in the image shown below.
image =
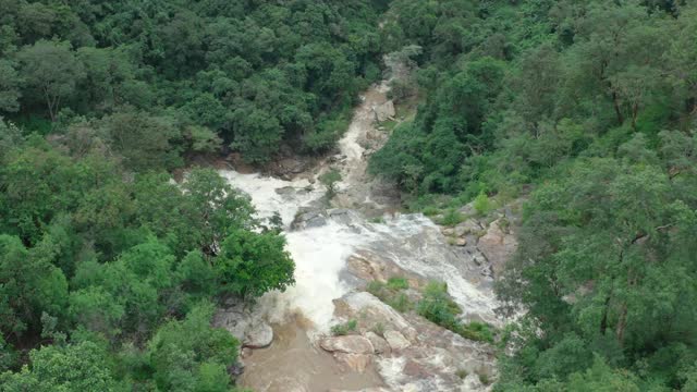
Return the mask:
{"type": "Polygon", "coordinates": [[[533,196],[498,292],[539,328],[528,336],[541,351],[533,362],[547,364],[539,378],[565,377],[552,358],[580,358],[580,346],[622,363],[694,336],[697,316],[680,305],[697,296],[694,245],[683,240],[697,229],[683,199],[689,191],[674,187],[640,148],[640,140],[623,146],[622,160],[579,160],[533,196]],[[585,343],[562,339],[567,331],[585,343]]]}

